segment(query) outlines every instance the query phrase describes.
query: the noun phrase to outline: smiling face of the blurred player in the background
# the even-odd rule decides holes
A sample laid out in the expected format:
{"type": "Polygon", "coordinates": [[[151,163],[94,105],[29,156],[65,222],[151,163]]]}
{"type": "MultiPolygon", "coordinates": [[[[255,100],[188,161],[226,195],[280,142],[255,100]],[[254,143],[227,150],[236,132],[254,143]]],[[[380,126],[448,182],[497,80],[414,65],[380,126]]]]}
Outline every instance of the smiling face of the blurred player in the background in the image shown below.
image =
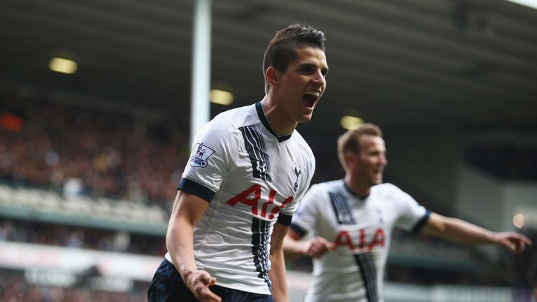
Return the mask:
{"type": "Polygon", "coordinates": [[[369,186],[382,183],[382,173],[388,161],[384,140],[380,136],[361,136],[360,151],[355,158],[353,173],[357,181],[369,186]]]}

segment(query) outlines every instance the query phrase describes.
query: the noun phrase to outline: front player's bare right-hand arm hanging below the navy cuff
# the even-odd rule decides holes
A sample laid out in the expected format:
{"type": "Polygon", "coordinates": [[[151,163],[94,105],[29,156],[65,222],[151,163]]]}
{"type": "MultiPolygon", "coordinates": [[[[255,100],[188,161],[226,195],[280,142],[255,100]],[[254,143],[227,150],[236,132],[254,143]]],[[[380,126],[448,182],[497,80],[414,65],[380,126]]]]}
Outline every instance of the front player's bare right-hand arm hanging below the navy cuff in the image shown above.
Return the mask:
{"type": "Polygon", "coordinates": [[[268,277],[272,282],[272,296],[275,302],[287,301],[287,277],[285,275],[285,259],[283,257],[283,238],[289,227],[275,223],[271,235],[271,270],[268,277]]]}

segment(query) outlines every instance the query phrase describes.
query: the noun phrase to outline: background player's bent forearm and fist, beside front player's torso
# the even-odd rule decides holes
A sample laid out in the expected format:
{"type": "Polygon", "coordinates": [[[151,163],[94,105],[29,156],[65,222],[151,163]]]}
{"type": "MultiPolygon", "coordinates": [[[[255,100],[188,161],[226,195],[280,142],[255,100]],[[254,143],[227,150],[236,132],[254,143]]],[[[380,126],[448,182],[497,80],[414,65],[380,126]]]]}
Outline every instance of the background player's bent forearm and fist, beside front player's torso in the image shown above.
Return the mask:
{"type": "Polygon", "coordinates": [[[307,241],[301,240],[301,237],[301,234],[292,228],[287,231],[287,235],[283,240],[285,257],[289,259],[302,256],[318,258],[336,248],[334,243],[320,236],[315,236],[307,241]]]}

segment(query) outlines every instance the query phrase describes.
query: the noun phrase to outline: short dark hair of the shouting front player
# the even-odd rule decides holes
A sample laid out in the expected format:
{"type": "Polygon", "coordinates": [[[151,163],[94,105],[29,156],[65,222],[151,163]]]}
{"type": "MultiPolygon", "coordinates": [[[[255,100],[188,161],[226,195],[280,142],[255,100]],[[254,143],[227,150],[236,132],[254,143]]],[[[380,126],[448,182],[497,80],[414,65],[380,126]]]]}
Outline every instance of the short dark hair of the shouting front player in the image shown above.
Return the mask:
{"type": "MultiPolygon", "coordinates": [[[[296,49],[306,46],[315,46],[325,51],[324,32],[308,25],[291,24],[285,29],[276,32],[274,38],[268,43],[263,57],[263,75],[273,66],[278,71],[285,72],[289,62],[296,59],[296,49]]],[[[268,81],[265,78],[265,92],[268,92],[268,81]]]]}

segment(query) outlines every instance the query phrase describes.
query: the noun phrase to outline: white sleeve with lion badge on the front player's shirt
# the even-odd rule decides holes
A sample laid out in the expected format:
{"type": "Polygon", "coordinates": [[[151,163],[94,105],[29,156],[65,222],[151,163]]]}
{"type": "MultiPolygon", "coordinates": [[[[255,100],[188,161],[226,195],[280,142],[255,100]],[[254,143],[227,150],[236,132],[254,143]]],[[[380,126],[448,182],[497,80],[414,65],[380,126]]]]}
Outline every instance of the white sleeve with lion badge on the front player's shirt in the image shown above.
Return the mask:
{"type": "Polygon", "coordinates": [[[182,177],[217,192],[238,154],[238,139],[238,131],[227,120],[215,117],[194,137],[182,177]]]}

